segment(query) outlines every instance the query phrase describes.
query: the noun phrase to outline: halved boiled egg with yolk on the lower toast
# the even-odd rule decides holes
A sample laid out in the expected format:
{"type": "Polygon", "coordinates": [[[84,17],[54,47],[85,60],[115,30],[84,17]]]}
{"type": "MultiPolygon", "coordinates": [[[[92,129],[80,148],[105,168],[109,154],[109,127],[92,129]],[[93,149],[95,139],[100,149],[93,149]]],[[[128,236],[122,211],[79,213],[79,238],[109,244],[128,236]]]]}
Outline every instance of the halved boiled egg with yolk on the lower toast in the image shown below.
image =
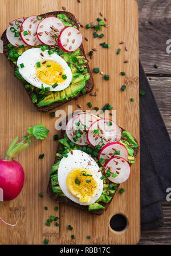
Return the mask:
{"type": "Polygon", "coordinates": [[[60,160],[58,182],[62,192],[70,200],[80,205],[96,202],[103,191],[101,172],[95,160],[83,151],[74,150],[73,154],[60,160]]]}

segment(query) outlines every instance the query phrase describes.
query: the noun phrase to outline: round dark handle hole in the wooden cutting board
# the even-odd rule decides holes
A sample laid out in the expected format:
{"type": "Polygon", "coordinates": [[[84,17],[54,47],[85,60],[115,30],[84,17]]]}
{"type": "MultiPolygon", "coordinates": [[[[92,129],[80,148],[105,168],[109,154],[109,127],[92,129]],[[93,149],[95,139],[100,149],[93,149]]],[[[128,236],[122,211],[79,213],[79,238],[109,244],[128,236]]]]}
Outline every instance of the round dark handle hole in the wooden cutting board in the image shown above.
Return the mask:
{"type": "Polygon", "coordinates": [[[124,233],[128,229],[128,218],[124,214],[118,213],[111,217],[110,227],[117,233],[124,233]]]}

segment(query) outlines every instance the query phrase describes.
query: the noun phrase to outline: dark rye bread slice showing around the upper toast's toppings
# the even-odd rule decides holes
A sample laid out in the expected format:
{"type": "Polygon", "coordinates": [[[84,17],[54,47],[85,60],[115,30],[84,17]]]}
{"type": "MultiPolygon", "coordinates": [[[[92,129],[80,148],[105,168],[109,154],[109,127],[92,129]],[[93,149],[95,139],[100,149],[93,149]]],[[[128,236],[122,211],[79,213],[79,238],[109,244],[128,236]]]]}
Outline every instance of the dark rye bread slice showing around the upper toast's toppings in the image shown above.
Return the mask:
{"type": "MultiPolygon", "coordinates": [[[[68,13],[67,11],[52,11],[51,13],[45,13],[45,14],[41,14],[41,15],[42,15],[43,18],[47,18],[47,17],[56,17],[56,15],[58,15],[58,14],[66,14],[68,19],[70,19],[70,21],[73,22],[74,25],[79,30],[79,25],[78,25],[78,22],[76,21],[76,18],[74,16],[74,14],[68,13]]],[[[8,58],[9,48],[7,47],[7,44],[9,44],[9,40],[6,37],[6,30],[2,34],[1,40],[3,41],[3,53],[5,54],[6,58],[8,58]]],[[[84,51],[83,44],[81,44],[79,48],[80,48],[80,55],[81,56],[85,56],[85,59],[87,59],[86,58],[86,53],[84,51]]],[[[11,64],[11,66],[13,67],[14,71],[17,70],[17,66],[11,60],[9,60],[9,62],[11,64]]],[[[92,77],[91,70],[89,68],[88,62],[86,63],[86,68],[88,70],[90,78],[89,78],[89,80],[86,81],[86,85],[85,85],[84,89],[86,91],[86,94],[89,94],[89,92],[91,92],[93,90],[93,87],[95,86],[95,84],[93,82],[93,77],[92,77]]],[[[23,87],[25,88],[24,85],[23,85],[23,87]]],[[[25,90],[26,90],[26,88],[25,88],[25,90]]],[[[30,99],[31,99],[31,92],[27,91],[27,94],[30,96],[30,99]]],[[[56,102],[54,102],[54,103],[52,103],[50,105],[47,105],[47,106],[38,106],[38,105],[36,105],[36,103],[33,103],[33,104],[35,105],[35,108],[38,111],[48,112],[48,111],[51,111],[54,108],[58,108],[60,105],[68,103],[68,101],[71,101],[73,99],[76,100],[76,99],[78,99],[78,97],[80,97],[82,95],[83,95],[83,93],[79,92],[79,94],[76,95],[75,97],[70,97],[68,100],[64,100],[64,101],[56,101],[56,102]]],[[[31,99],[31,101],[32,101],[32,99],[31,99]]]]}

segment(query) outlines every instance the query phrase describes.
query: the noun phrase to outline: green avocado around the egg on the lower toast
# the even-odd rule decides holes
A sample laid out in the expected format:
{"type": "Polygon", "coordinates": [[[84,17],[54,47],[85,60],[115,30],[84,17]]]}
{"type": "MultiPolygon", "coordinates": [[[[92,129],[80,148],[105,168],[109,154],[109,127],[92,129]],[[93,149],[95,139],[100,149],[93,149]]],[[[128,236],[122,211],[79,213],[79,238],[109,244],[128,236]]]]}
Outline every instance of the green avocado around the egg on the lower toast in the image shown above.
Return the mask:
{"type": "MultiPolygon", "coordinates": [[[[59,183],[58,183],[58,166],[60,164],[60,160],[63,158],[63,156],[67,153],[69,153],[72,150],[78,149],[81,150],[83,152],[86,152],[87,154],[91,155],[92,158],[97,162],[97,164],[99,165],[99,168],[101,169],[101,174],[103,175],[103,168],[100,165],[100,162],[98,160],[98,156],[99,156],[99,152],[101,148],[95,147],[93,148],[91,145],[87,145],[87,146],[81,146],[81,145],[76,145],[75,143],[73,143],[72,141],[70,141],[66,135],[66,133],[64,134],[64,138],[58,140],[59,143],[61,144],[60,146],[60,152],[61,153],[57,153],[56,156],[58,157],[59,161],[56,162],[56,164],[54,164],[52,166],[51,169],[51,186],[52,186],[52,190],[53,192],[56,194],[56,197],[59,196],[63,196],[65,197],[64,193],[62,192],[62,190],[60,189],[59,183]]],[[[126,131],[122,132],[122,136],[121,136],[121,140],[120,143],[124,144],[125,147],[127,147],[128,149],[128,161],[133,164],[135,161],[135,157],[133,156],[134,150],[133,148],[138,147],[136,141],[133,139],[133,136],[126,131]],[[128,139],[128,144],[123,142],[123,138],[127,137],[128,139]],[[131,160],[131,161],[130,161],[131,160]]],[[[91,204],[88,206],[88,210],[92,211],[92,210],[100,210],[100,209],[105,209],[103,205],[99,204],[99,202],[109,202],[111,201],[113,194],[115,194],[116,190],[118,190],[117,188],[117,184],[113,183],[113,182],[109,182],[108,178],[104,177],[103,178],[103,192],[101,193],[101,196],[99,197],[99,199],[95,202],[95,204],[91,204]]]]}

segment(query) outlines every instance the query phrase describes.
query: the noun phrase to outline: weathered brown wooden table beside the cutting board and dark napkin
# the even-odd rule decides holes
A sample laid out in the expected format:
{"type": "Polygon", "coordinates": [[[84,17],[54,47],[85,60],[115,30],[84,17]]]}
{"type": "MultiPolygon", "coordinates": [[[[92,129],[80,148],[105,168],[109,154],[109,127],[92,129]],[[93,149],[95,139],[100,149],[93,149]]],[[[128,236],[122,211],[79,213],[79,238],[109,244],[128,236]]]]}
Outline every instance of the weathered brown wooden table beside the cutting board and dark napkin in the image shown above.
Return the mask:
{"type": "MultiPolygon", "coordinates": [[[[136,1],[139,4],[140,60],[171,137],[171,53],[166,52],[166,41],[171,39],[170,0],[136,1]],[[154,68],[154,64],[158,68],[154,68]]],[[[171,244],[171,204],[164,200],[162,208],[164,226],[141,232],[140,244],[171,244]]]]}

